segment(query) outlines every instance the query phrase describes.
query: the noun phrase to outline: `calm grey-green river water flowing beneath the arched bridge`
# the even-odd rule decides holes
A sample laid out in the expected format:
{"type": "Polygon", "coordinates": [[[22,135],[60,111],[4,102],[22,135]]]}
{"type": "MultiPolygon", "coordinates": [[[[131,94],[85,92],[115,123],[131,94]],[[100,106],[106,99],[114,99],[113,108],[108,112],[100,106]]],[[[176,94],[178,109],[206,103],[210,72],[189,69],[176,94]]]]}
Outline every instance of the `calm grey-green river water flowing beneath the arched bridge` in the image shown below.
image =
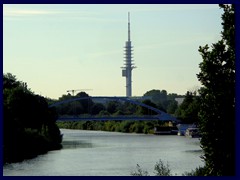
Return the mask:
{"type": "Polygon", "coordinates": [[[61,129],[63,149],[3,166],[4,176],[129,176],[139,164],[154,175],[161,159],[173,175],[203,166],[199,139],[61,129]]]}

